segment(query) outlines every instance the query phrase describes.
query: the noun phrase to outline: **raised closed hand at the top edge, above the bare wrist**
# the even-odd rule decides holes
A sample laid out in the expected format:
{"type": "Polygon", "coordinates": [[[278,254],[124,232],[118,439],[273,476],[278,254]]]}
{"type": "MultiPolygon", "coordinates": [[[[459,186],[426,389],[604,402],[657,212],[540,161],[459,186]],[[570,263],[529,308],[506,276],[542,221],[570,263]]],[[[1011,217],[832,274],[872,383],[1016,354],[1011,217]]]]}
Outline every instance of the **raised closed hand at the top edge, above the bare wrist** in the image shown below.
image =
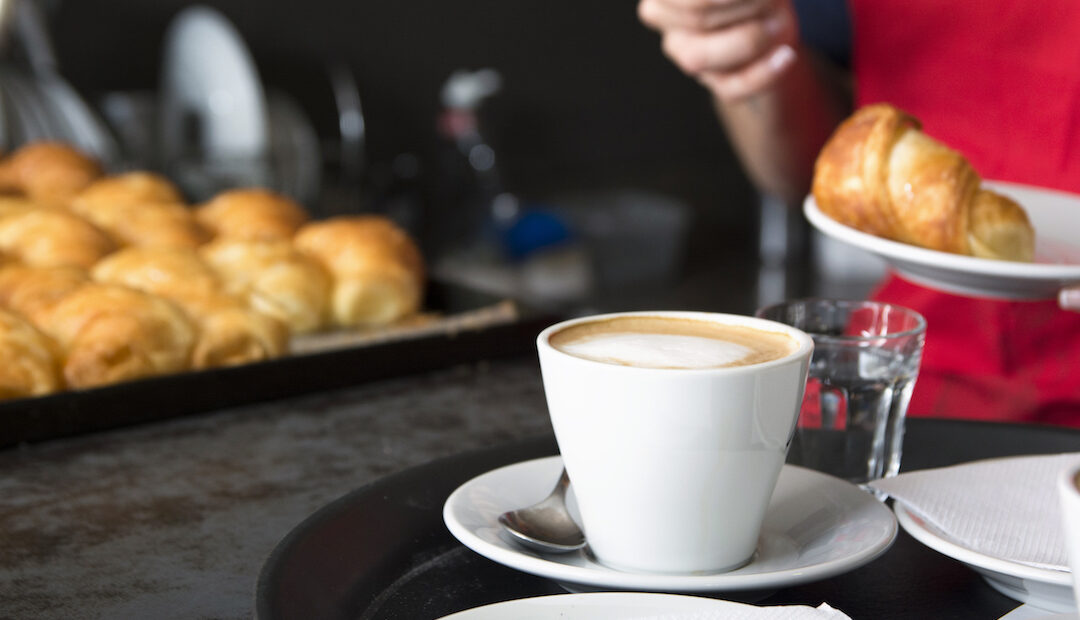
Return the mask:
{"type": "Polygon", "coordinates": [[[795,62],[791,0],[640,0],[637,14],[667,57],[721,102],[765,90],[795,62]]]}

